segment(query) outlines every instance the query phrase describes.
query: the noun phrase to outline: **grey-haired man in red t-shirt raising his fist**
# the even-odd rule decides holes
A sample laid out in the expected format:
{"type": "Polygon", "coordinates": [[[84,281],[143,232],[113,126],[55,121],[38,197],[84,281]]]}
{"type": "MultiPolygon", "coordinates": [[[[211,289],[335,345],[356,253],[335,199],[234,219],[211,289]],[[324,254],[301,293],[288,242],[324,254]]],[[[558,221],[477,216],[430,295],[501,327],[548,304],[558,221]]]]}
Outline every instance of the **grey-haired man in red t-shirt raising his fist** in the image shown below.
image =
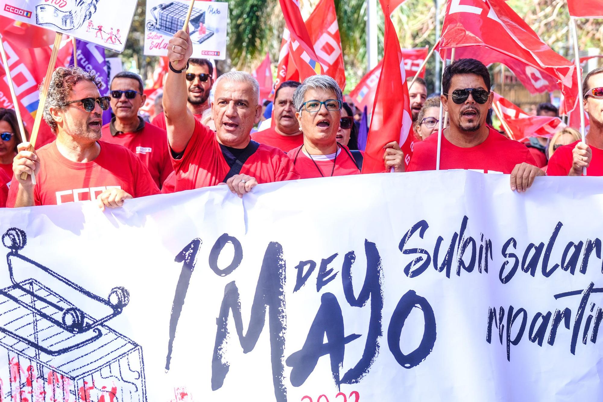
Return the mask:
{"type": "Polygon", "coordinates": [[[185,31],[168,43],[169,71],[163,88],[163,111],[174,165],[175,191],[224,183],[242,196],[257,183],[299,178],[280,149],[251,141],[251,128],[262,113],[259,84],[251,75],[231,71],[216,80],[212,103],[214,133],[186,108],[185,71],[192,54],[185,31]]]}

